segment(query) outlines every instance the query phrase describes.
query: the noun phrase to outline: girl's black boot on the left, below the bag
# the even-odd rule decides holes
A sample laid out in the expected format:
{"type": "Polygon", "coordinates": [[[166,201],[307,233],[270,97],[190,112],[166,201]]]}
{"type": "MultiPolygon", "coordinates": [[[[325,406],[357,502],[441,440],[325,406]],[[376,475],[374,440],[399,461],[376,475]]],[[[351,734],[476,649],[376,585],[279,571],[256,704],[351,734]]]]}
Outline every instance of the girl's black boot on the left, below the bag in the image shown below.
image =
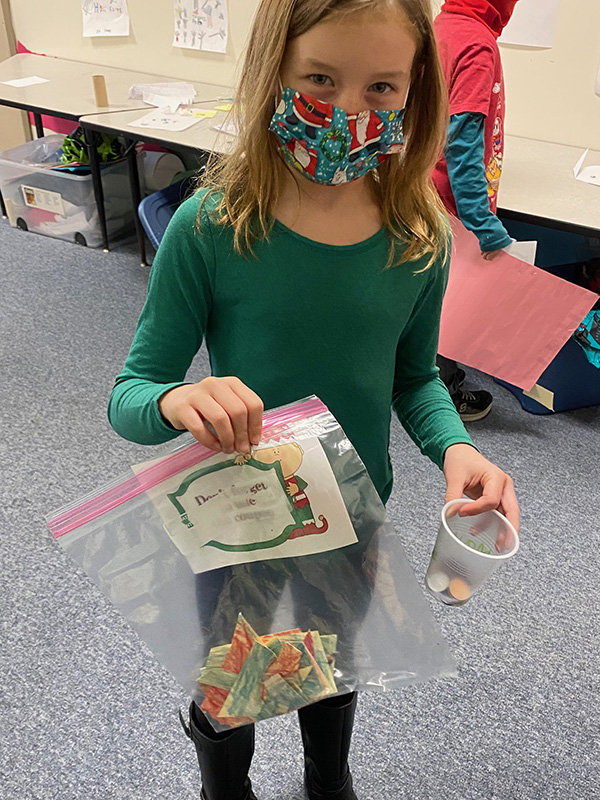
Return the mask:
{"type": "Polygon", "coordinates": [[[195,703],[189,725],[179,712],[186,736],[196,746],[202,776],[202,800],[256,800],[248,770],[254,755],[254,725],[217,733],[195,703]]]}

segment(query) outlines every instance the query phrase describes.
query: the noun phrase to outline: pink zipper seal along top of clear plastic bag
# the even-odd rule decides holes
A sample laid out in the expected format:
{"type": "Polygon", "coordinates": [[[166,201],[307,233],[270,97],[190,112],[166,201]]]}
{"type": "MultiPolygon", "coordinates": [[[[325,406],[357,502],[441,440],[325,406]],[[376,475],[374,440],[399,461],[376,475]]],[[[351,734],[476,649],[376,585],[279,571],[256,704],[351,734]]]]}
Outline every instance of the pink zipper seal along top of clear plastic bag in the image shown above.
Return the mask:
{"type": "MultiPolygon", "coordinates": [[[[285,428],[292,422],[315,416],[317,414],[328,413],[327,406],[317,397],[299,403],[293,403],[283,408],[267,411],[263,416],[263,439],[268,440],[275,434],[282,435],[285,428]]],[[[204,447],[199,442],[194,442],[183,450],[162,458],[157,464],[153,464],[137,475],[133,475],[125,481],[112,486],[101,494],[83,502],[76,508],[65,511],[62,514],[48,521],[48,527],[52,536],[59,539],[71,531],[80,528],[82,525],[102,516],[103,514],[118,508],[123,503],[153,489],[173,475],[183,472],[185,469],[193,467],[206,461],[207,458],[218,455],[215,450],[204,447]]]]}

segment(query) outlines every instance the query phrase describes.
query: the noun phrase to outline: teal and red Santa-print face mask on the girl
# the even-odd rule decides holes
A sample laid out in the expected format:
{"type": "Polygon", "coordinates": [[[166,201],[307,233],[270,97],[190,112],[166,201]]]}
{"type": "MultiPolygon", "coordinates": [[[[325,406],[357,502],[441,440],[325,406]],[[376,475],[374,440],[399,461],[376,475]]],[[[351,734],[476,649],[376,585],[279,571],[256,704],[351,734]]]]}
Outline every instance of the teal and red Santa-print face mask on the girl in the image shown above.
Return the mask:
{"type": "Polygon", "coordinates": [[[269,125],[287,163],[316,183],[349,183],[404,144],[405,109],[347,114],[286,88],[269,125]]]}

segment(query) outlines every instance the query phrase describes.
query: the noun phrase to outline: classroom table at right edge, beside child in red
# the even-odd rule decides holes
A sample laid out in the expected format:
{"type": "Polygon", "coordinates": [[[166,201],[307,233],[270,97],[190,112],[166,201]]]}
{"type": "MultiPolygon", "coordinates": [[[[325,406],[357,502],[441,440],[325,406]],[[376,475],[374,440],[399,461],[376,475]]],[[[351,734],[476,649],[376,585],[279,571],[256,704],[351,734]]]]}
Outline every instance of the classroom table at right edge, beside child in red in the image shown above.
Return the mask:
{"type": "MultiPolygon", "coordinates": [[[[506,219],[598,238],[600,186],[578,181],[585,148],[506,136],[498,213],[506,219]]],[[[600,164],[590,150],[585,165],[600,164]]]]}

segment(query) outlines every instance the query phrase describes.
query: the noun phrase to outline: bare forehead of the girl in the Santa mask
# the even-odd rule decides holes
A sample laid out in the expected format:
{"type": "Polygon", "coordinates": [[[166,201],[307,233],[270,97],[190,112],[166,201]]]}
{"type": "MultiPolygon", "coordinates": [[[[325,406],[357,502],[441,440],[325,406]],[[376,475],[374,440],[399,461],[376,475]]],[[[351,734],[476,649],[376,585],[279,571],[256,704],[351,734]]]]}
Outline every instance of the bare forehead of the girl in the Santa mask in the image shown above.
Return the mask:
{"type": "Polygon", "coordinates": [[[286,60],[314,69],[353,69],[410,74],[417,49],[415,34],[400,9],[333,16],[292,39],[286,60]]]}

